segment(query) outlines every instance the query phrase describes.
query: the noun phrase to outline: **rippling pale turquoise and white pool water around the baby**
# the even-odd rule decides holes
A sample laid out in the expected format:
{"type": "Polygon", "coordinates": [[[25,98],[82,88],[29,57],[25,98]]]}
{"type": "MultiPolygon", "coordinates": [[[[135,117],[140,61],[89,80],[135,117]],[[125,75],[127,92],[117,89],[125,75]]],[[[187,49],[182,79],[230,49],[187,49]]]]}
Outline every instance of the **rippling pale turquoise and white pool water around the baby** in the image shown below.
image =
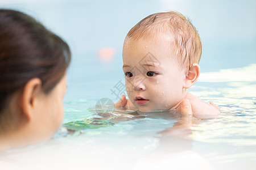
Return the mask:
{"type": "Polygon", "coordinates": [[[255,169],[255,75],[255,64],[202,73],[191,92],[213,101],[221,113],[190,118],[177,128],[176,112],[98,109],[95,99],[65,102],[64,125],[51,141],[2,153],[1,163],[38,169],[255,169]],[[245,76],[232,76],[238,73],[245,76]]]}

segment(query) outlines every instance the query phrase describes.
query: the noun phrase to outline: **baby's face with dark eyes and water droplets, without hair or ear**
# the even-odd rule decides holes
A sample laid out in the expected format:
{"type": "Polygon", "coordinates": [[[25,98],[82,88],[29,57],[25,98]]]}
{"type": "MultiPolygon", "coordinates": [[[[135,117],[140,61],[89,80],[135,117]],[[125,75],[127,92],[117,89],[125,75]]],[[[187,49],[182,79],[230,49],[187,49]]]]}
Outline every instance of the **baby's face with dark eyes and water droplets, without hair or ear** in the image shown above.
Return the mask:
{"type": "Polygon", "coordinates": [[[170,40],[125,40],[123,72],[127,95],[140,111],[175,109],[185,97],[185,69],[174,59],[170,40]]]}

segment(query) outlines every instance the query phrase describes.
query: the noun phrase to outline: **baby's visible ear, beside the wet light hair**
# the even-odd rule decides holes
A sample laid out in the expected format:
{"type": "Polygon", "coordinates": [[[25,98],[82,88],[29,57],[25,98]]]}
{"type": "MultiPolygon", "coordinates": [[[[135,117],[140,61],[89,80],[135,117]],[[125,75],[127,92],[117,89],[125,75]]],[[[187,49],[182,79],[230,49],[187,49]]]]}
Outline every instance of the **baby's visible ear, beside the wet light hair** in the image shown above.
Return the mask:
{"type": "Polygon", "coordinates": [[[196,80],[200,74],[200,66],[197,63],[193,63],[191,68],[188,71],[186,71],[185,74],[186,75],[185,75],[183,88],[189,88],[196,83],[196,80]]]}

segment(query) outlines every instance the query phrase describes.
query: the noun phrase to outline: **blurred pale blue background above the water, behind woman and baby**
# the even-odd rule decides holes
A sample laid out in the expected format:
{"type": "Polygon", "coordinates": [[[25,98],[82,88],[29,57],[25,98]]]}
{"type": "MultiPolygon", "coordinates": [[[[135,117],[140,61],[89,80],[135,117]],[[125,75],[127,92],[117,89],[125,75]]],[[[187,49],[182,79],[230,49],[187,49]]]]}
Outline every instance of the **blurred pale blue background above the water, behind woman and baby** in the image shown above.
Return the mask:
{"type": "Polygon", "coordinates": [[[127,32],[155,12],[179,11],[191,19],[203,43],[201,72],[256,63],[256,1],[234,0],[0,0],[0,8],[25,12],[71,46],[68,90],[64,101],[117,101],[122,44],[127,32]]]}

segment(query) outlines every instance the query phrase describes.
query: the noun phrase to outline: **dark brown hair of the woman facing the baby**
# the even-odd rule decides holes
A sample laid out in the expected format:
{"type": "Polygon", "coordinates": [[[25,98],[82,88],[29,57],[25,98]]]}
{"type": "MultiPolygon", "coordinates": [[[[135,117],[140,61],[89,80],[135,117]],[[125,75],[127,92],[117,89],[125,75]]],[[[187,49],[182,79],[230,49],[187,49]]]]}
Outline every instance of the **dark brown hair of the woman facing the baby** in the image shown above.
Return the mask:
{"type": "MultiPolygon", "coordinates": [[[[11,95],[32,78],[47,94],[71,61],[69,46],[31,16],[0,9],[0,121],[11,95]]],[[[6,117],[6,116],[5,116],[6,117]]]]}

